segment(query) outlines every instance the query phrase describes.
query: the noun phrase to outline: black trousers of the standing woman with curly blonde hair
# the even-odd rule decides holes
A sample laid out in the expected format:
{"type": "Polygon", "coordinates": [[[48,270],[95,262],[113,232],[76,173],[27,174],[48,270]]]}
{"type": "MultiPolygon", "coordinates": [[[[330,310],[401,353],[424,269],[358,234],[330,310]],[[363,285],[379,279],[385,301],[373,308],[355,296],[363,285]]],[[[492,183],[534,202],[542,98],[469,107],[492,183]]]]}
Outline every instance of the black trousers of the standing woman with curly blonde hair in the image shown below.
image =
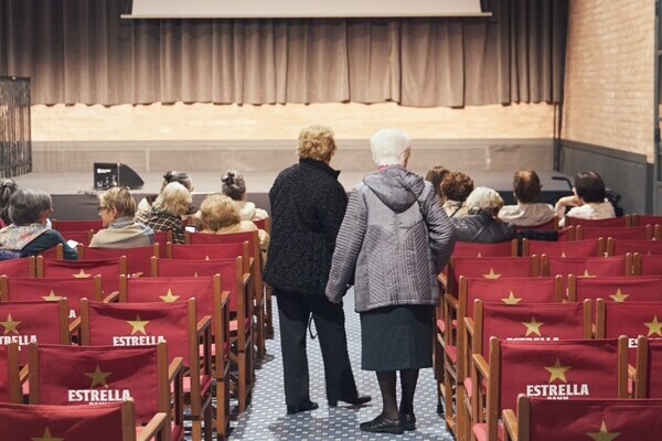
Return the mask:
{"type": "Polygon", "coordinates": [[[323,295],[301,295],[275,291],[280,320],[280,346],[285,375],[285,402],[300,406],[310,401],[306,338],[308,321],[317,329],[329,401],[353,400],[357,396],[348,354],[342,303],[331,303],[323,295]]]}

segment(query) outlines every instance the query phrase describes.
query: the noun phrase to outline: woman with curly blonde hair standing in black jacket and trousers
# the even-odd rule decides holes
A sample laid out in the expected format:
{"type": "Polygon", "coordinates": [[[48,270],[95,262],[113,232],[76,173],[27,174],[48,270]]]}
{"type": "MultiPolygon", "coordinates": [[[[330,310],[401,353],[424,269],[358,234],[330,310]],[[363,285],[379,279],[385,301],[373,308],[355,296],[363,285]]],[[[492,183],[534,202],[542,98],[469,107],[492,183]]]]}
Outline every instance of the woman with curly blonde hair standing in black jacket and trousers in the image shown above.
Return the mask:
{"type": "Polygon", "coordinates": [[[333,131],[306,127],[297,142],[299,163],[281,171],[269,191],[271,244],[265,281],[278,300],[287,413],[314,410],[310,399],[306,330],[312,320],[324,361],[327,400],[360,405],[370,400],[356,390],[348,354],[342,304],[324,297],[335,236],[348,205],[329,163],[335,153],[333,131]]]}

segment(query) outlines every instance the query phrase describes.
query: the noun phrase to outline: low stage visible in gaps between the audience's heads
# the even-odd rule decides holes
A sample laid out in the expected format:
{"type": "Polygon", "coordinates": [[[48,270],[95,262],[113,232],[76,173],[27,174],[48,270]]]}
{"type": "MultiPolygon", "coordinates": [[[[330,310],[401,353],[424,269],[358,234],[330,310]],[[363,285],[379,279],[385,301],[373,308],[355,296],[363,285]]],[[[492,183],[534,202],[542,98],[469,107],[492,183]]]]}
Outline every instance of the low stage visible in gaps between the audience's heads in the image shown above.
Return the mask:
{"type": "MultiPolygon", "coordinates": [[[[416,173],[425,174],[425,170],[414,170],[416,173]]],[[[372,170],[345,171],[340,173],[340,182],[350,192],[364,175],[372,170]]],[[[503,171],[471,171],[466,170],[474,181],[476,185],[484,185],[496,190],[506,204],[514,203],[512,195],[512,172],[503,171]]],[[[541,202],[554,204],[558,197],[569,194],[568,183],[564,180],[569,176],[553,172],[538,171],[543,183],[541,202]]],[[[146,194],[158,193],[163,182],[162,173],[139,172],[145,181],[141,189],[131,192],[137,200],[146,194]]],[[[269,211],[269,189],[278,175],[277,171],[249,171],[244,173],[247,187],[247,200],[255,202],[258,207],[269,211]]],[[[191,172],[193,179],[193,202],[196,206],[207,194],[221,191],[221,172],[196,171],[191,172]]],[[[97,217],[98,200],[97,191],[94,190],[94,178],[92,166],[89,172],[35,172],[14,178],[22,187],[40,189],[53,196],[53,217],[57,219],[90,219],[97,217]]]]}

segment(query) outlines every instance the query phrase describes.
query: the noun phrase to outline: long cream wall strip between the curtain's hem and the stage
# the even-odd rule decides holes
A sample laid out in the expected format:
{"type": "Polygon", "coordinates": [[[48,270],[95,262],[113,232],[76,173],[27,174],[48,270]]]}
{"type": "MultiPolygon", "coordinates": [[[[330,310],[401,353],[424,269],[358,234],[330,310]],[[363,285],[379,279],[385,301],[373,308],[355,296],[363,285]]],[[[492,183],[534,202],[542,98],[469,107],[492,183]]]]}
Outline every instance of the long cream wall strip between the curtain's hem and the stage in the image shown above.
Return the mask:
{"type": "Polygon", "coordinates": [[[414,139],[551,138],[546,104],[463,109],[395,104],[287,106],[33,106],[34,141],[170,141],[295,139],[301,127],[331,126],[339,139],[369,138],[398,127],[414,139]]]}

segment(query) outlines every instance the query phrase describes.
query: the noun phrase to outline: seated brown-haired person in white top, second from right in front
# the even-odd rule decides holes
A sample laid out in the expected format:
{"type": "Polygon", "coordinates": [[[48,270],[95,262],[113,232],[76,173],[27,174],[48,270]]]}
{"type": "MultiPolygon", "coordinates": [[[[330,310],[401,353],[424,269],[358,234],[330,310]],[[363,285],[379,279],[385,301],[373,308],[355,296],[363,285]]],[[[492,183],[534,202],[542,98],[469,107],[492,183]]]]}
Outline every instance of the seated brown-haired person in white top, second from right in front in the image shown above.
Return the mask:
{"type": "Polygon", "coordinates": [[[548,223],[556,216],[549,204],[536,203],[541,194],[541,179],[533,170],[515,172],[513,193],[517,205],[505,205],[499,211],[499,218],[521,227],[531,227],[548,223]]]}

